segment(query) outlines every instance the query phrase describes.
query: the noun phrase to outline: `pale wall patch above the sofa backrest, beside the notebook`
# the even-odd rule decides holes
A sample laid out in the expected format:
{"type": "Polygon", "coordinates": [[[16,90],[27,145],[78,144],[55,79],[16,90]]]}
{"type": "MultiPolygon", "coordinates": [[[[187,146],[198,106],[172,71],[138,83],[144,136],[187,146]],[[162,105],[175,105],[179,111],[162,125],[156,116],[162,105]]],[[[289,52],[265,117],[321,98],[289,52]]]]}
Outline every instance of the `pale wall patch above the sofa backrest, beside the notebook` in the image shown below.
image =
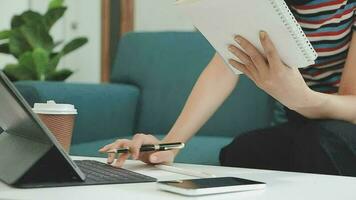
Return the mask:
{"type": "Polygon", "coordinates": [[[135,0],[135,31],[192,31],[175,0],[135,0]]]}

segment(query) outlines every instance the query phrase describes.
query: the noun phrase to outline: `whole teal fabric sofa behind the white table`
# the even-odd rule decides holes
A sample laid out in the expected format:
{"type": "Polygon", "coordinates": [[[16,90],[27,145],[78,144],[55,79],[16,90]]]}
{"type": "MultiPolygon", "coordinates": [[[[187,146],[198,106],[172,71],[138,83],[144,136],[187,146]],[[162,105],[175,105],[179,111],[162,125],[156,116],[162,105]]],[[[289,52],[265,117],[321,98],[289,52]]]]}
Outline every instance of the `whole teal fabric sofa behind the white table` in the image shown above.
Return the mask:
{"type": "MultiPolygon", "coordinates": [[[[29,81],[16,86],[30,105],[50,99],[75,104],[79,114],[71,154],[103,156],[98,148],[137,132],[162,138],[213,54],[196,32],[129,33],[118,45],[110,84],[29,81]]],[[[235,136],[271,126],[273,107],[272,98],[242,77],[176,161],[218,165],[220,149],[235,136]]]]}

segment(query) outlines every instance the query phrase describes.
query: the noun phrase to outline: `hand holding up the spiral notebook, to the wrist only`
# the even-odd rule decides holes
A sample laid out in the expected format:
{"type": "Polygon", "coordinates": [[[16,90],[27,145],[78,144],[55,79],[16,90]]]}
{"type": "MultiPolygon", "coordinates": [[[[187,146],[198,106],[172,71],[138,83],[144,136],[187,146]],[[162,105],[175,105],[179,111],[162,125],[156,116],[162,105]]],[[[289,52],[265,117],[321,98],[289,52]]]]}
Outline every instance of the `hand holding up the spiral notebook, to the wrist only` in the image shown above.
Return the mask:
{"type": "Polygon", "coordinates": [[[288,67],[282,62],[266,32],[260,32],[264,54],[241,36],[236,36],[235,41],[242,49],[230,45],[229,51],[242,63],[230,59],[229,63],[232,66],[288,108],[295,110],[307,105],[312,90],[309,89],[297,68],[288,67]]]}

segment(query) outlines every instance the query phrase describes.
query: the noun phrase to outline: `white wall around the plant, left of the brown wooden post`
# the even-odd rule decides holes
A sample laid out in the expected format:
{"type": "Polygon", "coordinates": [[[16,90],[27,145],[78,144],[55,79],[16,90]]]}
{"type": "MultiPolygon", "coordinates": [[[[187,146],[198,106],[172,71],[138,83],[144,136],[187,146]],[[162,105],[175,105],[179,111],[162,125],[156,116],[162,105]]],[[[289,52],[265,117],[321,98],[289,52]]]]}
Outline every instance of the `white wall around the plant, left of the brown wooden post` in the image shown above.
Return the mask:
{"type": "MultiPolygon", "coordinates": [[[[9,28],[11,16],[31,8],[45,12],[48,0],[1,0],[0,30],[9,28]],[[5,6],[3,6],[5,5],[5,6]]],[[[66,0],[68,10],[65,17],[56,24],[52,35],[56,41],[68,42],[77,36],[86,36],[89,43],[76,52],[65,57],[59,68],[75,71],[69,82],[100,82],[101,64],[101,1],[100,0],[66,0]],[[76,26],[76,28],[73,28],[76,26]]],[[[1,56],[0,66],[14,60],[1,56]]]]}

